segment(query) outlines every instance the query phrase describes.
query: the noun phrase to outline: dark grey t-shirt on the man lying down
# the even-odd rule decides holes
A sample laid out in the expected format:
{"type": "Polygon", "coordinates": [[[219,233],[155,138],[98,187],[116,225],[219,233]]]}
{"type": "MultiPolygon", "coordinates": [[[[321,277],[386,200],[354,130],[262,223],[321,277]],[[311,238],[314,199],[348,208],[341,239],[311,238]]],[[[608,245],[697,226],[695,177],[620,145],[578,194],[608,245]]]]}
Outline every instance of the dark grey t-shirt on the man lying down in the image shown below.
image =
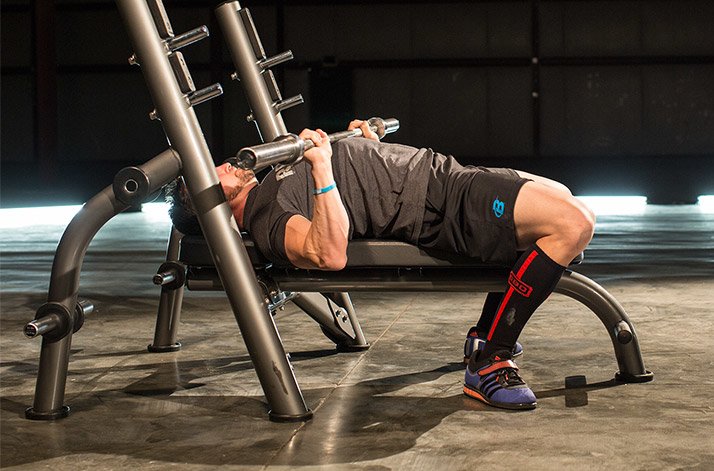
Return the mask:
{"type": "MultiPolygon", "coordinates": [[[[424,217],[434,153],[363,138],[332,145],[332,171],[350,222],[349,238],[416,243],[424,217]]],[[[309,164],[294,166],[282,180],[270,172],[251,190],[243,216],[258,250],[274,262],[289,262],[285,225],[293,215],[312,219],[314,183],[309,164]]]]}

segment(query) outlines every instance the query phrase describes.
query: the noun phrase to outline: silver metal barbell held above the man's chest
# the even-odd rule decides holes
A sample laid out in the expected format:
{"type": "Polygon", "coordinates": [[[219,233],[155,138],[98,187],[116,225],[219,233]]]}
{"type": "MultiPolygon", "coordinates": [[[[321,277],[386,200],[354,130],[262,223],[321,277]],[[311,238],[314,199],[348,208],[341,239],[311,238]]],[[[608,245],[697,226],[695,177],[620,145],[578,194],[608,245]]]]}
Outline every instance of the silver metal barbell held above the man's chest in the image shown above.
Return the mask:
{"type": "MultiPolygon", "coordinates": [[[[394,118],[370,118],[369,128],[382,139],[386,134],[399,129],[399,120],[394,118]]],[[[360,128],[329,134],[330,142],[337,142],[350,137],[362,136],[360,128]]],[[[310,139],[300,139],[295,134],[282,136],[276,141],[244,147],[238,151],[238,165],[258,171],[275,164],[295,164],[302,159],[305,151],[312,149],[315,143],[310,139]]]]}

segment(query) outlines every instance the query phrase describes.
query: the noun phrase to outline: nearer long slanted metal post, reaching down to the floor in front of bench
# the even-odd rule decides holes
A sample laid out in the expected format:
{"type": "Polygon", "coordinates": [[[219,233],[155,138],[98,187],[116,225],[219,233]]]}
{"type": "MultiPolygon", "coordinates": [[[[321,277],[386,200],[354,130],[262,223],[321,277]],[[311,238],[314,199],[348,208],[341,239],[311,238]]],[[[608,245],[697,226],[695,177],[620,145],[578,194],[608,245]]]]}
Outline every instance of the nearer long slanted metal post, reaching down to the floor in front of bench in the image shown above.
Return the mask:
{"type": "Polygon", "coordinates": [[[312,416],[260,293],[240,231],[225,202],[213,157],[200,124],[181,92],[146,0],[117,0],[144,79],[172,147],[181,156],[182,175],[216,269],[243,333],[256,374],[271,407],[272,420],[312,416]]]}

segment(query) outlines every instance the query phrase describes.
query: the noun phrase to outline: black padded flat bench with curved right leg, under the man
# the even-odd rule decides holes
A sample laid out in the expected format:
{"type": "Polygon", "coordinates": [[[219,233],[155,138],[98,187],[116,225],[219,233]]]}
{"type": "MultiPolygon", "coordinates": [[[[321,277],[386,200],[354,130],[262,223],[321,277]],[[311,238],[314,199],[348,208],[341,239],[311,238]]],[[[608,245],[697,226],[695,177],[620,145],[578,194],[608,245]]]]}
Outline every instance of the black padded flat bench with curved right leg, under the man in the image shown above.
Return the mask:
{"type": "MultiPolygon", "coordinates": [[[[179,238],[177,234],[174,244],[177,245],[179,238]]],[[[346,350],[368,347],[361,336],[361,328],[349,297],[343,294],[347,291],[502,291],[510,272],[507,266],[487,264],[479,259],[452,253],[425,251],[408,243],[390,240],[350,241],[347,266],[341,271],[305,270],[269,262],[245,235],[243,243],[260,285],[264,288],[266,302],[295,302],[321,324],[323,332],[335,341],[338,349],[346,350]],[[316,293],[324,293],[323,296],[335,301],[346,313],[335,314],[333,310],[325,312],[324,309],[320,312],[317,301],[320,298],[316,293]],[[348,320],[351,326],[345,326],[348,320]],[[351,327],[352,330],[345,327],[351,327]]],[[[175,253],[179,263],[186,268],[185,286],[189,290],[223,289],[202,237],[184,236],[175,253]]],[[[581,261],[582,256],[573,260],[571,266],[581,261]]],[[[634,327],[622,306],[604,288],[568,269],[555,292],[584,304],[603,323],[612,339],[617,358],[619,371],[616,379],[623,382],[652,379],[652,374],[642,362],[634,327]]],[[[178,316],[179,313],[174,312],[172,315],[178,316]]]]}

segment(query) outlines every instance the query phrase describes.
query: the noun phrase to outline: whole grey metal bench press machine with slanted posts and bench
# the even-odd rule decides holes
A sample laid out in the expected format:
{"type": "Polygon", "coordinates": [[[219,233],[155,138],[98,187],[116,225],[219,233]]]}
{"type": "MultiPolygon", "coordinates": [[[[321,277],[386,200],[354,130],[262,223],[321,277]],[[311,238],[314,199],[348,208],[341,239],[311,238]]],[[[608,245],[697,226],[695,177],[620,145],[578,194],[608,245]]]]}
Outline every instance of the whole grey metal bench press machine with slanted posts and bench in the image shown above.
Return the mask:
{"type": "MultiPolygon", "coordinates": [[[[97,231],[120,212],[147,200],[181,175],[197,212],[204,238],[182,237],[172,229],[166,263],[154,277],[161,285],[156,332],[149,350],[180,348],[176,341],[184,287],[222,289],[236,317],[267,402],[276,421],[301,421],[312,416],[283,349],[270,310],[292,301],[315,319],[338,349],[368,348],[347,291],[498,291],[508,267],[450,254],[426,253],[394,241],[356,240],[348,248],[349,262],[339,272],[301,270],[270,264],[243,238],[233,220],[193,106],[222,93],[219,84],[196,90],[178,49],[208,35],[205,27],[174,35],[161,0],[117,0],[134,46],[131,63],[141,65],[155,109],[171,147],[148,162],[117,173],[109,185],[77,213],[58,245],[47,302],[27,324],[29,337],[42,335],[35,396],[29,419],[66,417],[64,391],[71,339],[91,312],[78,301],[84,254],[97,231]],[[324,294],[317,294],[324,293],[324,294]],[[338,307],[329,304],[325,298],[338,307]]],[[[229,45],[236,76],[244,86],[251,120],[266,141],[287,135],[280,112],[302,101],[283,99],[270,67],[292,57],[289,52],[268,58],[250,13],[238,1],[216,8],[229,45]]],[[[280,168],[287,175],[290,166],[280,168]]],[[[570,270],[556,287],[590,308],[607,329],[623,382],[645,382],[635,329],[622,306],[602,287],[570,270]]]]}

